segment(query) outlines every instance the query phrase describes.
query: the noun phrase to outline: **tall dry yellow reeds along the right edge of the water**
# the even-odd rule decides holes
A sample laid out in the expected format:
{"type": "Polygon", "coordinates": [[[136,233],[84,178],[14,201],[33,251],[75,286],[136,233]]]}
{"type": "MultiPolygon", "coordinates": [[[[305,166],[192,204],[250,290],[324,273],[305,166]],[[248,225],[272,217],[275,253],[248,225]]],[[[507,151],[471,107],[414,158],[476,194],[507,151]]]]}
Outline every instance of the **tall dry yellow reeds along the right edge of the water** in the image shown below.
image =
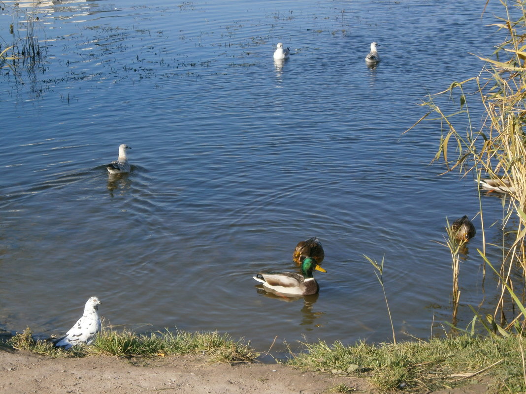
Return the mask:
{"type": "MultiPolygon", "coordinates": [[[[501,246],[501,296],[493,314],[494,317],[500,315],[500,324],[508,326],[510,322],[505,309],[513,310],[513,306],[504,303],[509,298],[506,286],[517,280],[513,279],[517,277],[513,275],[515,266],[520,266],[526,273],[526,139],[523,130],[526,113],[526,35],[523,33],[526,4],[517,2],[512,8],[502,4],[506,16],[493,26],[507,37],[494,51],[494,56],[479,56],[484,65],[478,76],[453,82],[448,89],[429,96],[429,100],[421,104],[428,107],[429,112],[415,125],[431,114],[438,115],[443,131],[434,160],[443,161],[446,172],[455,170],[464,176],[472,174],[479,183],[488,177],[505,178],[509,182],[509,192],[502,200],[505,211],[503,227],[511,217],[516,217],[518,224],[511,232],[503,231],[503,240],[510,240],[511,244],[503,241],[501,246]],[[474,93],[470,93],[471,89],[474,93]],[[448,95],[449,100],[442,104],[444,95],[448,95]],[[453,104],[455,106],[451,108],[453,104]],[[484,119],[480,127],[475,126],[471,104],[483,109],[484,119]]],[[[480,253],[485,258],[488,240],[484,232],[481,194],[482,191],[479,192],[483,241],[480,253]]]]}

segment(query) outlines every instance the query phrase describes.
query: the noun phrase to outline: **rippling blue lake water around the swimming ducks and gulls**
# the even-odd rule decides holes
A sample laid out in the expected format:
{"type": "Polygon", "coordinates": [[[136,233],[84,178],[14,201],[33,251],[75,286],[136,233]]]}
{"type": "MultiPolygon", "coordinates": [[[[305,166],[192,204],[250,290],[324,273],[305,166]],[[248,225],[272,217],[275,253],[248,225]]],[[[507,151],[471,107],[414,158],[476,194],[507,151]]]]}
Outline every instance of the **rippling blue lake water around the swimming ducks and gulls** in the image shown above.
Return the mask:
{"type": "MultiPolygon", "coordinates": [[[[28,12],[43,56],[0,76],[0,328],[63,333],[96,295],[106,324],[217,329],[258,350],[275,340],[276,356],[284,341],[389,341],[365,254],[385,256],[397,339],[440,334],[446,217],[475,216],[477,188],[429,165],[439,121],[402,132],[428,92],[476,76],[473,54],[502,42],[487,26],[499,2],[482,18],[484,2],[452,0],[19,3],[0,15],[2,49],[28,12]],[[132,171],[112,179],[120,143],[132,171]],[[319,295],[257,287],[262,269],[296,269],[311,236],[326,254],[319,295]]],[[[482,200],[498,220],[500,199],[482,200]]],[[[497,297],[475,223],[461,327],[468,305],[497,297]]],[[[498,226],[487,236],[502,242],[498,226]]]]}

